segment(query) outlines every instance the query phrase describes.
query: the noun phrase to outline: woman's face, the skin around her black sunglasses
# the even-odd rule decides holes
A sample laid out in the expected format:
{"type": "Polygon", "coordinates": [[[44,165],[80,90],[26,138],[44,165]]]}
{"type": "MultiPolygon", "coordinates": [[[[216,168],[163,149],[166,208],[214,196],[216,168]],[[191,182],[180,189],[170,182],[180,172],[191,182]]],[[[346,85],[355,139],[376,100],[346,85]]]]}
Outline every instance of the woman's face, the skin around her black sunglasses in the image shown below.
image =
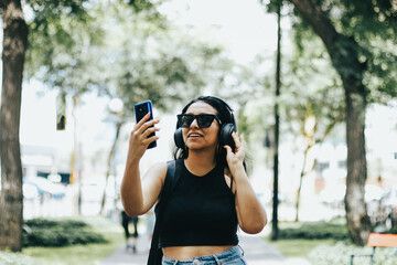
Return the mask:
{"type": "MultiPolygon", "coordinates": [[[[214,114],[216,115],[216,109],[204,103],[204,102],[196,102],[193,103],[187,109],[186,114],[214,114]]],[[[200,128],[197,125],[197,120],[194,119],[193,123],[190,125],[189,128],[183,128],[183,140],[186,147],[191,150],[198,150],[198,149],[207,149],[217,147],[218,144],[218,130],[219,124],[216,119],[213,120],[208,128],[200,128]]]]}

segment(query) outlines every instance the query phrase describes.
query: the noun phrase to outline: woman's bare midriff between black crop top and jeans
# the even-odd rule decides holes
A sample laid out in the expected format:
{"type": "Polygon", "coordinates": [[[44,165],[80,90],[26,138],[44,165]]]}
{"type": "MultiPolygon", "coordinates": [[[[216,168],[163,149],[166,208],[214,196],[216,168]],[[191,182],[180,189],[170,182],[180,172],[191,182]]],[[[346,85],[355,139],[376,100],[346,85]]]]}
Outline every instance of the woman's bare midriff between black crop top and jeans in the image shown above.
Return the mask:
{"type": "Polygon", "coordinates": [[[196,256],[210,256],[230,250],[234,245],[226,246],[168,246],[163,247],[163,255],[172,259],[190,259],[196,256]]]}

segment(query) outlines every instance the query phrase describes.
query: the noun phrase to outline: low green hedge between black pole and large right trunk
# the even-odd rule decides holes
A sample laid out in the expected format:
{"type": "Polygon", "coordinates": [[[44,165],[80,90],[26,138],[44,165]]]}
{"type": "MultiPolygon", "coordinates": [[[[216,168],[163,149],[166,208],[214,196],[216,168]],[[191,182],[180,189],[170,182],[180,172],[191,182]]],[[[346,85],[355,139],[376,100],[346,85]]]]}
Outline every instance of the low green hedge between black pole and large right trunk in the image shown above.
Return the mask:
{"type": "Polygon", "coordinates": [[[348,239],[347,227],[336,222],[300,222],[282,223],[279,232],[280,240],[335,240],[348,239]]]}

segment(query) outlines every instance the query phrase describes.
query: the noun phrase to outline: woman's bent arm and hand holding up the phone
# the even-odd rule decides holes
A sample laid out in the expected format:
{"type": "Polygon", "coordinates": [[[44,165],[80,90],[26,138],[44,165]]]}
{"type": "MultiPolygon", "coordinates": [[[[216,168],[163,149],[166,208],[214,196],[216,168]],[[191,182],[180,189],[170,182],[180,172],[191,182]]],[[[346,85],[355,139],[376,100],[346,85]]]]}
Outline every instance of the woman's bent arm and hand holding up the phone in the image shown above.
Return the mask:
{"type": "Polygon", "coordinates": [[[159,130],[154,126],[158,119],[149,120],[148,114],[132,129],[126,162],[126,170],[121,182],[121,202],[125,211],[130,216],[148,212],[159,198],[167,173],[167,165],[153,166],[140,178],[139,161],[150,142],[158,139],[157,136],[148,136],[159,130]]]}

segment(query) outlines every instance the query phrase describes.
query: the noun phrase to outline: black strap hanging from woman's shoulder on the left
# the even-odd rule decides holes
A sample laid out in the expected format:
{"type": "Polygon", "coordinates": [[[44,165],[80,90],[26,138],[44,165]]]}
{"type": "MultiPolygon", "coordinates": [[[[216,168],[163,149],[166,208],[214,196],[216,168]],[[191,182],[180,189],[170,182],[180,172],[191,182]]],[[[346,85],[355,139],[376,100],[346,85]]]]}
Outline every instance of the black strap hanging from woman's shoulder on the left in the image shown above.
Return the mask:
{"type": "Polygon", "coordinates": [[[160,237],[160,225],[163,215],[163,205],[167,203],[170,194],[172,193],[173,188],[175,187],[181,170],[181,161],[183,160],[173,160],[168,162],[167,167],[167,176],[164,180],[164,187],[161,191],[160,202],[154,208],[155,213],[155,223],[153,230],[153,236],[150,245],[148,265],[161,265],[162,259],[162,250],[159,246],[159,237],[160,237]]]}

